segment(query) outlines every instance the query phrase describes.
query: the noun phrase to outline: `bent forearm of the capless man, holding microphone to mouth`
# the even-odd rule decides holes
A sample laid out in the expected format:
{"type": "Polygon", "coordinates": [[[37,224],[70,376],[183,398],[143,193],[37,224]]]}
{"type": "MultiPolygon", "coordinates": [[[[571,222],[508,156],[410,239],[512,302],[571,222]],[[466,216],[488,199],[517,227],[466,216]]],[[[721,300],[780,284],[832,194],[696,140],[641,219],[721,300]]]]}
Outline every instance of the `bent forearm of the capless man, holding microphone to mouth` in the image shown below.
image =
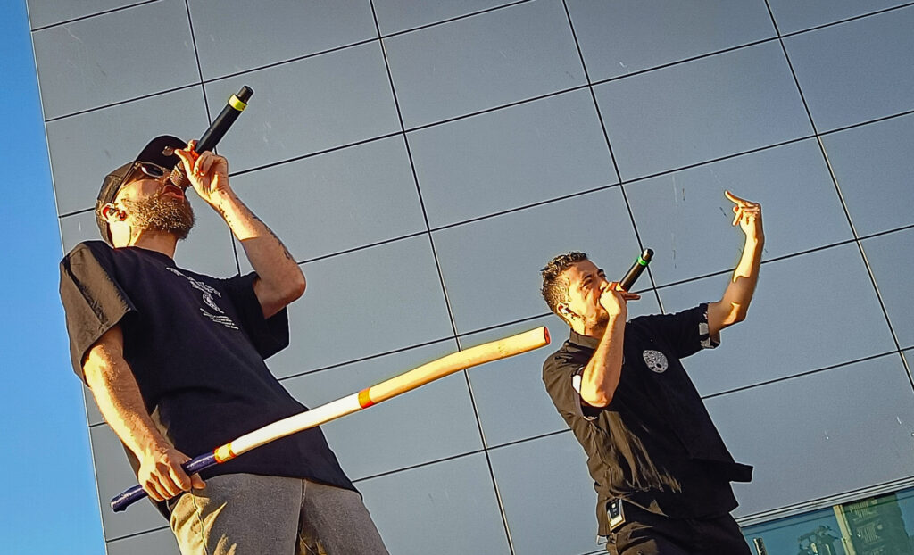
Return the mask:
{"type": "Polygon", "coordinates": [[[612,317],[590,362],[581,373],[580,398],[589,405],[609,405],[619,386],[619,379],[622,378],[624,334],[624,317],[612,317]]]}

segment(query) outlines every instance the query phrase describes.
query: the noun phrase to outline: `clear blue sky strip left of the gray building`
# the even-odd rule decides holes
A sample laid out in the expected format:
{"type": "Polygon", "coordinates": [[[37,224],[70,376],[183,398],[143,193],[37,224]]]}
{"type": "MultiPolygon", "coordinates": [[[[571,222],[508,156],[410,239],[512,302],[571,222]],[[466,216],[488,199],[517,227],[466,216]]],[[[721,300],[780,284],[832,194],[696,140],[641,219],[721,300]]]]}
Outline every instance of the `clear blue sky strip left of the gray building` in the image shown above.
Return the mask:
{"type": "Polygon", "coordinates": [[[26,1],[3,4],[0,550],[95,555],[101,517],[58,300],[62,252],[26,1]]]}

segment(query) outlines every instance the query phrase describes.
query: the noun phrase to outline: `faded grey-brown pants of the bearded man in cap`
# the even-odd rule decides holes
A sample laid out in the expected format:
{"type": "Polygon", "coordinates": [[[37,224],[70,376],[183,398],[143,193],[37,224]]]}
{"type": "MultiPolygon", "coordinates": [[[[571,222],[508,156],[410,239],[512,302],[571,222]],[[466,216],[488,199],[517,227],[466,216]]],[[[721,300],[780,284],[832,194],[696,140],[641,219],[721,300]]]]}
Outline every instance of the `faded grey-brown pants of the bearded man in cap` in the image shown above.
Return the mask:
{"type": "Polygon", "coordinates": [[[296,478],[209,478],[171,528],[183,555],[388,555],[361,496],[296,478]]]}

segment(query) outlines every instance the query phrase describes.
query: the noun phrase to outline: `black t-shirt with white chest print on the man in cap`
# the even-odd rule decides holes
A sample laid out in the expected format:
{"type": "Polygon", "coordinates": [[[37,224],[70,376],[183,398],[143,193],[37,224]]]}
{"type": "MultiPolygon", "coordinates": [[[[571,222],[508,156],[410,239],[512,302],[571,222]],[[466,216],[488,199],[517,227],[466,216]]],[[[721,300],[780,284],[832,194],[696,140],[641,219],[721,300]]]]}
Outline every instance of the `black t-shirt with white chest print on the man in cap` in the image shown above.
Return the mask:
{"type": "MultiPolygon", "coordinates": [[[[160,252],[80,243],[60,262],[73,370],[83,379],[89,348],[120,324],[123,358],[146,410],[188,456],[305,411],[263,362],[289,344],[289,321],[284,309],[263,317],[255,278],[250,273],[217,279],[179,269],[160,252]]],[[[268,443],[201,475],[232,473],[356,489],[319,428],[268,443]]]]}

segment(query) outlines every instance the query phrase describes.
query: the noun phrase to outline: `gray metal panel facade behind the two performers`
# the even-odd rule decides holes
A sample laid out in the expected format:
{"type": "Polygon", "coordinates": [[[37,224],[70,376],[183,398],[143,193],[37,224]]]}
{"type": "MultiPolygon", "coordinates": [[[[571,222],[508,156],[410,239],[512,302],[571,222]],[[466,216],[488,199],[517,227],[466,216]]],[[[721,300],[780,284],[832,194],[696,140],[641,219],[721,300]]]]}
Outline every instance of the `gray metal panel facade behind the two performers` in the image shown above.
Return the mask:
{"type": "MultiPolygon", "coordinates": [[[[685,366],[757,468],[738,518],[909,486],[914,5],[802,5],[28,0],[62,242],[98,238],[107,171],[250,85],[219,152],[308,276],[268,363],[314,406],[525,328],[562,341],[538,298],[561,251],[615,276],[653,248],[632,314],[716,300],[742,240],[730,189],[764,207],[758,294],[685,366]]],[[[178,263],[250,268],[196,208],[178,263]]],[[[600,552],[546,354],[325,426],[392,553],[600,552]]],[[[132,475],[87,421],[109,552],[176,553],[148,504],[111,513],[132,475]]]]}

